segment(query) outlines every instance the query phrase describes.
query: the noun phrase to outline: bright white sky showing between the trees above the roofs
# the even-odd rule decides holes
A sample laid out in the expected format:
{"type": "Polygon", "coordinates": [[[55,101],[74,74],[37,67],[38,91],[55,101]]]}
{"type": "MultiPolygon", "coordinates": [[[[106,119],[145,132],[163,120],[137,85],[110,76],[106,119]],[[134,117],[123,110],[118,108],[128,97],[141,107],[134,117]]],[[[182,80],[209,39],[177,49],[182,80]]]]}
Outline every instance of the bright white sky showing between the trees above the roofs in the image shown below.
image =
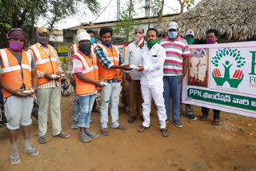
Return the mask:
{"type": "MultiPolygon", "coordinates": [[[[134,8],[136,11],[136,16],[134,18],[140,18],[145,17],[145,10],[142,8],[142,6],[145,6],[145,1],[141,0],[141,2],[138,2],[138,0],[134,4],[134,8]]],[[[195,0],[195,5],[200,2],[201,0],[195,0]]],[[[117,20],[117,0],[104,0],[100,1],[101,4],[101,10],[98,12],[98,14],[92,14],[89,10],[85,10],[86,6],[84,4],[78,4],[78,8],[76,11],[78,11],[76,14],[70,15],[70,17],[66,19],[62,19],[58,23],[54,25],[54,29],[62,30],[67,29],[73,26],[79,26],[81,23],[89,23],[89,22],[110,22],[117,20]],[[105,9],[105,10],[104,10],[105,9]]],[[[120,0],[121,2],[121,11],[122,8],[126,8],[126,4],[130,2],[129,0],[120,0]]],[[[193,7],[193,6],[192,6],[193,7]]],[[[163,14],[174,14],[178,13],[180,11],[180,5],[178,0],[165,0],[165,6],[163,8],[163,14]]],[[[184,8],[184,12],[186,11],[186,8],[184,8]]],[[[46,18],[40,18],[38,20],[37,26],[45,26],[47,23],[46,18]]]]}

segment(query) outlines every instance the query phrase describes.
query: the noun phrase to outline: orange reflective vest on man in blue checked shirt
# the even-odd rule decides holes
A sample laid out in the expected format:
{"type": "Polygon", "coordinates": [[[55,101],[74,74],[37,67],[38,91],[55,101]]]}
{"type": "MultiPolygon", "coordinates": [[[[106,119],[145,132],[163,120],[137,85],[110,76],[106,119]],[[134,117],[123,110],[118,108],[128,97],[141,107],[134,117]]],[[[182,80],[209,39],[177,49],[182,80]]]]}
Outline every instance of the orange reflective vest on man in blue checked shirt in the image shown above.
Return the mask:
{"type": "MultiPolygon", "coordinates": [[[[102,44],[100,44],[98,46],[102,48],[106,58],[111,63],[114,63],[114,65],[119,66],[120,51],[118,50],[118,46],[112,45],[113,52],[111,52],[111,50],[109,50],[109,48],[107,48],[106,46],[104,46],[102,44]]],[[[111,80],[116,76],[118,78],[118,81],[121,81],[119,69],[107,69],[104,66],[102,66],[101,62],[98,62],[98,72],[104,80],[111,80]]]]}

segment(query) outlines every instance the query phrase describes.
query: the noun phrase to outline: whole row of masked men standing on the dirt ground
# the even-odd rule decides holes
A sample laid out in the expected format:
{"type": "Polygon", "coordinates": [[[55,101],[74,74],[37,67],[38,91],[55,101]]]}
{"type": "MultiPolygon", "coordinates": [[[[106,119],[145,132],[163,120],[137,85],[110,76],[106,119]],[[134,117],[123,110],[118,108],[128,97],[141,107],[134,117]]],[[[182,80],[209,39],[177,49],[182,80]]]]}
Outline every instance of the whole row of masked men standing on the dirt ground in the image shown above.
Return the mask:
{"type": "MultiPolygon", "coordinates": [[[[214,30],[215,31],[215,30],[214,30]]],[[[208,42],[216,42],[218,32],[207,32],[208,42]],[[213,34],[214,33],[214,34],[213,34]]],[[[108,109],[110,105],[110,127],[126,130],[127,127],[118,122],[118,102],[121,91],[120,70],[126,71],[126,80],[130,89],[130,118],[133,123],[139,116],[142,133],[150,128],[151,99],[158,108],[160,134],[168,137],[166,123],[170,121],[170,97],[172,97],[172,120],[174,125],[182,127],[179,121],[180,92],[182,79],[189,65],[190,50],[194,32],[186,33],[186,40],[178,36],[178,24],[170,22],[168,36],[158,44],[158,31],[150,28],[146,32],[138,27],[134,30],[134,42],[130,43],[125,62],[117,46],[113,45],[113,30],[102,27],[101,43],[94,42],[94,32],[78,30],[78,43],[70,48],[70,80],[75,87],[72,109],[72,129],[79,128],[79,139],[83,142],[98,137],[89,130],[90,115],[98,90],[101,89],[101,133],[109,135],[108,109]],[[88,33],[87,33],[88,32],[88,33]]],[[[30,113],[33,107],[34,93],[38,97],[38,142],[45,144],[47,129],[47,110],[50,103],[52,134],[54,137],[68,138],[68,133],[62,132],[61,126],[61,62],[58,54],[48,44],[50,33],[45,28],[38,28],[37,43],[23,50],[26,46],[26,33],[21,29],[12,29],[6,35],[9,48],[0,50],[2,70],[0,70],[0,85],[5,100],[7,129],[10,137],[12,154],[10,162],[20,162],[17,147],[18,129],[22,125],[25,141],[25,153],[38,155],[38,149],[30,145],[30,113]]],[[[186,105],[186,113],[190,119],[196,117],[191,105],[186,105]]],[[[209,109],[202,108],[201,121],[206,121],[209,109]]],[[[219,111],[214,111],[214,125],[218,121],[219,111]]]]}

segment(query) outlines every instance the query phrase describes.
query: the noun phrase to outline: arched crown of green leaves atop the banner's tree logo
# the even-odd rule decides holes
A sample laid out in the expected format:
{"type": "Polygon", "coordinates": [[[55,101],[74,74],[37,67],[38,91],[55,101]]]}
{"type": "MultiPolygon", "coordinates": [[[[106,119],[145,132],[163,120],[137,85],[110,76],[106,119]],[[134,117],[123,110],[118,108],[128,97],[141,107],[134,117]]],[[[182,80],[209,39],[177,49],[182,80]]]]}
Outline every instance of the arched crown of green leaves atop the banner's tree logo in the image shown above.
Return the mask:
{"type": "MultiPolygon", "coordinates": [[[[231,50],[230,48],[224,48],[223,50],[218,50],[216,52],[216,55],[214,58],[212,58],[212,63],[214,64],[214,66],[218,67],[219,63],[221,62],[222,58],[224,57],[230,57],[230,58],[234,58],[234,61],[237,63],[237,67],[241,68],[242,66],[245,66],[246,58],[243,58],[241,56],[240,50],[231,50]]],[[[228,65],[230,62],[226,61],[226,65],[228,65]]]]}

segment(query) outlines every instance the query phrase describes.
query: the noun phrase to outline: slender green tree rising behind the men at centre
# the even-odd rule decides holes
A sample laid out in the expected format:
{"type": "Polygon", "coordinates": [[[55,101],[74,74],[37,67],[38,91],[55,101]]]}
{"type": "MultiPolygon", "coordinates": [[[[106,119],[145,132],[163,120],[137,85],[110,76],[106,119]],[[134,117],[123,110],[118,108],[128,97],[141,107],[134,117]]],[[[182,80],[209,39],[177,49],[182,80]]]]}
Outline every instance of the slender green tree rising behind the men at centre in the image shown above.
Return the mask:
{"type": "Polygon", "coordinates": [[[120,14],[120,19],[116,23],[114,28],[114,34],[125,35],[125,42],[129,42],[129,38],[131,37],[130,33],[134,31],[134,25],[138,25],[139,22],[136,22],[133,16],[136,15],[134,10],[134,3],[132,0],[127,4],[127,9],[122,9],[122,13],[120,14]]]}

